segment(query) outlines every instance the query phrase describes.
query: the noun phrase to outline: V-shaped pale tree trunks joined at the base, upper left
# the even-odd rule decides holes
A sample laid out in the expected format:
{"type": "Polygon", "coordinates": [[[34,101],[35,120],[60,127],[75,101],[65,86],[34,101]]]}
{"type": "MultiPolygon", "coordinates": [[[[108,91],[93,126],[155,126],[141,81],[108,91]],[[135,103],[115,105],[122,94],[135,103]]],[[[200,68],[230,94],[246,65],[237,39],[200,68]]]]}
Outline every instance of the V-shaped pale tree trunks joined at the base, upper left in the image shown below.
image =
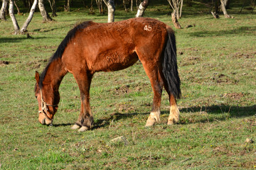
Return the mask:
{"type": "Polygon", "coordinates": [[[36,10],[36,5],[38,4],[38,0],[34,0],[33,1],[33,5],[31,6],[31,11],[28,15],[28,18],[26,19],[25,23],[23,23],[23,26],[21,27],[21,29],[18,26],[18,22],[16,21],[16,18],[14,16],[14,1],[10,0],[9,2],[9,14],[11,17],[11,21],[14,25],[14,34],[25,34],[26,33],[26,29],[28,28],[29,23],[31,22],[32,18],[33,18],[33,13],[36,10]]]}

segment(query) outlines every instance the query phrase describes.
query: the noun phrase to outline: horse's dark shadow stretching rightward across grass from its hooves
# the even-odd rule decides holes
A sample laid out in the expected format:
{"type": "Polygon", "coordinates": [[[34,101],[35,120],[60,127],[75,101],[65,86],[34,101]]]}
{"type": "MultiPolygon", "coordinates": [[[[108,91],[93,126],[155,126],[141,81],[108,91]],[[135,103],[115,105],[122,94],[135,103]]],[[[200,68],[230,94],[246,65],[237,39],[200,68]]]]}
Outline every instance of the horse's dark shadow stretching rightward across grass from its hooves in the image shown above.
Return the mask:
{"type": "MultiPolygon", "coordinates": [[[[162,109],[164,110],[164,109],[162,109]]],[[[224,121],[226,120],[225,116],[223,118],[215,118],[217,116],[224,113],[228,113],[228,118],[245,118],[252,115],[256,115],[256,105],[254,106],[202,106],[202,107],[188,107],[188,108],[181,108],[180,109],[181,117],[183,113],[206,113],[210,116],[207,118],[200,118],[196,121],[184,121],[181,120],[178,124],[187,124],[187,123],[210,123],[214,121],[224,121]]],[[[161,114],[169,115],[169,111],[161,111],[161,114]]],[[[99,119],[93,125],[93,129],[97,128],[105,128],[110,125],[111,120],[122,120],[127,118],[132,118],[136,115],[149,115],[149,113],[113,113],[112,115],[99,119]]],[[[146,122],[145,122],[146,123],[146,122]]]]}

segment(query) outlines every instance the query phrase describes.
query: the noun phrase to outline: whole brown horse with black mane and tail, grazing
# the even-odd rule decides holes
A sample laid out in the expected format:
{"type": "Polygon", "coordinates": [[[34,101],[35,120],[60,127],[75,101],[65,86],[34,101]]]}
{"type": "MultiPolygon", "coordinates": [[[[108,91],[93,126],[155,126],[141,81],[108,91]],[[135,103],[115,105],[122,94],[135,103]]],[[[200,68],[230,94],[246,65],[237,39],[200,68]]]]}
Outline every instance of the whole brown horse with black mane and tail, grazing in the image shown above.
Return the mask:
{"type": "Polygon", "coordinates": [[[60,82],[70,72],[78,83],[81,98],[80,115],[72,128],[80,128],[79,131],[92,128],[89,92],[93,74],[125,69],[138,60],[142,62],[154,91],[153,108],[146,126],[160,120],[163,86],[171,104],[168,125],[178,122],[176,98],[181,89],[174,31],[152,18],[131,18],[116,23],[87,21],[70,30],[43,73],[39,76],[36,72],[39,122],[52,124],[60,101],[60,82]]]}

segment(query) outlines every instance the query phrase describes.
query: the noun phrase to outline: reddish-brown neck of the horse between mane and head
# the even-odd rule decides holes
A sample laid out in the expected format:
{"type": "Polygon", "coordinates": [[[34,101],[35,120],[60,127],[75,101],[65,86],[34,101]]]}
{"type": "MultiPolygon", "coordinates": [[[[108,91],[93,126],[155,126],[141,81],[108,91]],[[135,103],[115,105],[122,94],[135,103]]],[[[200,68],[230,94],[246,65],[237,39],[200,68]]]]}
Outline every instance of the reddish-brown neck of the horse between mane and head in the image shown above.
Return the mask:
{"type": "Polygon", "coordinates": [[[67,71],[65,68],[63,68],[61,59],[53,60],[53,62],[50,62],[48,65],[43,84],[51,85],[53,91],[58,91],[60,82],[62,81],[65,74],[67,74],[67,71]]]}

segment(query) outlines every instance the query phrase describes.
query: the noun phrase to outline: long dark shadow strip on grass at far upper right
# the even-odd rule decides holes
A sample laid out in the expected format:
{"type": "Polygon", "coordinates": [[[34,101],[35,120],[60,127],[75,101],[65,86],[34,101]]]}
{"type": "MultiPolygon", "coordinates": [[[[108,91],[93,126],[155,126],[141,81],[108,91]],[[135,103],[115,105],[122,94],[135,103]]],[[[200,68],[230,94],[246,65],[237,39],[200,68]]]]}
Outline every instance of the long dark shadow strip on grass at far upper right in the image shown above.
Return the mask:
{"type": "Polygon", "coordinates": [[[198,31],[194,33],[189,33],[190,36],[194,37],[218,37],[226,35],[246,35],[253,34],[256,32],[256,26],[242,26],[240,28],[235,28],[233,30],[216,30],[216,31],[198,31]]]}

